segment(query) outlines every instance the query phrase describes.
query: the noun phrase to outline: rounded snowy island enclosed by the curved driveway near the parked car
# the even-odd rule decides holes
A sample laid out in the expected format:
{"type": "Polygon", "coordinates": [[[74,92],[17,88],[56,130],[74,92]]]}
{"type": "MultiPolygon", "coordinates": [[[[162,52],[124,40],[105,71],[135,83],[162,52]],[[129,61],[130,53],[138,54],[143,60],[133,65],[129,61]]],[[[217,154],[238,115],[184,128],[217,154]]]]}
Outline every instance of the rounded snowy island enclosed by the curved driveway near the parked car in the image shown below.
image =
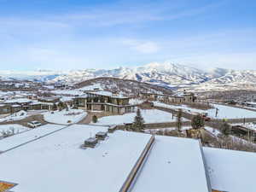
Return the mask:
{"type": "Polygon", "coordinates": [[[62,111],[46,112],[44,113],[44,119],[49,123],[70,125],[78,123],[80,120],[84,119],[87,115],[82,109],[66,109],[62,111]]]}

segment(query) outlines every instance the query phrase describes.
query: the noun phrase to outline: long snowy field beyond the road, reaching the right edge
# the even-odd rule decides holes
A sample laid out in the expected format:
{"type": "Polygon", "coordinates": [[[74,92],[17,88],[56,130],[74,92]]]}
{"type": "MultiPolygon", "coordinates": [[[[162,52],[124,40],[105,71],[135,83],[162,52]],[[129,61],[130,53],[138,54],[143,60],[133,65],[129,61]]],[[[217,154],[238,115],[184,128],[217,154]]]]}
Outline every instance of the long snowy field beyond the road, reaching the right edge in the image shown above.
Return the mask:
{"type": "Polygon", "coordinates": [[[169,105],[161,102],[154,102],[154,106],[162,108],[182,108],[184,111],[189,113],[208,113],[211,118],[217,119],[241,119],[241,118],[256,118],[256,112],[243,109],[243,108],[232,108],[224,105],[212,104],[214,108],[208,110],[201,110],[196,108],[189,108],[186,105],[169,105]],[[216,108],[218,108],[218,114],[216,116],[216,108]]]}

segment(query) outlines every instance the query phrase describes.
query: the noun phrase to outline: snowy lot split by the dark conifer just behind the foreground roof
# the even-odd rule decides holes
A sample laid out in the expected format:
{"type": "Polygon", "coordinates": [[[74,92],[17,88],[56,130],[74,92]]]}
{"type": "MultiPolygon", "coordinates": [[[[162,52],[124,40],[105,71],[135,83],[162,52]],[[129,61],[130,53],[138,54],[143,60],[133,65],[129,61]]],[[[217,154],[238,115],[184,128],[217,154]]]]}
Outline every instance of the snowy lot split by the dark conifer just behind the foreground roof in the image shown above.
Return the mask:
{"type": "MultiPolygon", "coordinates": [[[[163,123],[173,122],[175,117],[172,119],[172,113],[167,113],[157,109],[142,109],[141,110],[145,123],[163,123]]],[[[98,119],[96,125],[120,125],[124,123],[132,123],[136,113],[125,113],[123,115],[113,115],[98,119]]],[[[188,120],[188,119],[183,119],[188,120]]]]}

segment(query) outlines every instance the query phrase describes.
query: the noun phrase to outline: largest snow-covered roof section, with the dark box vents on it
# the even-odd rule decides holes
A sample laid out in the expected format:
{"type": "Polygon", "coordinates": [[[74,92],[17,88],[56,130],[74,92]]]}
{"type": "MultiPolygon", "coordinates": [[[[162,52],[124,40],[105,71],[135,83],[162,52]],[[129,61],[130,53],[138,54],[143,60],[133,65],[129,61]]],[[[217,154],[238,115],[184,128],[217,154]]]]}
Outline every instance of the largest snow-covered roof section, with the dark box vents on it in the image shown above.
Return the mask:
{"type": "Polygon", "coordinates": [[[115,131],[96,148],[80,148],[106,129],[72,125],[0,154],[1,180],[20,192],[119,192],[151,136],[115,131]]]}

